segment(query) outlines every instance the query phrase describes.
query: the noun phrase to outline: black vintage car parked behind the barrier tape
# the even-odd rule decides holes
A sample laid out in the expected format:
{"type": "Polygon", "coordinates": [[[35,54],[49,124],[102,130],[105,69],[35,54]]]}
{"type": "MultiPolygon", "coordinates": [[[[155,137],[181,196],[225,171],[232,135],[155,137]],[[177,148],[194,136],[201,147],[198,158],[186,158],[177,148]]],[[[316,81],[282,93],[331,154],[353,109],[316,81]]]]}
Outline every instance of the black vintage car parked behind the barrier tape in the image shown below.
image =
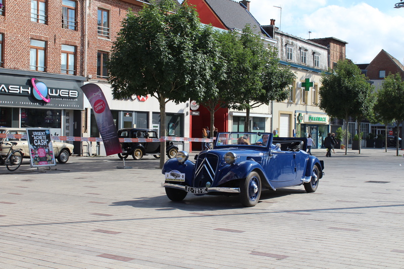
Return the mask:
{"type": "MultiPolygon", "coordinates": [[[[141,128],[124,128],[118,130],[119,138],[159,138],[156,130],[141,128]]],[[[178,147],[173,142],[166,142],[167,156],[171,159],[177,155],[178,147]]],[[[127,158],[129,155],[139,160],[143,155],[153,155],[160,158],[160,142],[123,142],[122,152],[118,153],[118,157],[127,158]]]]}

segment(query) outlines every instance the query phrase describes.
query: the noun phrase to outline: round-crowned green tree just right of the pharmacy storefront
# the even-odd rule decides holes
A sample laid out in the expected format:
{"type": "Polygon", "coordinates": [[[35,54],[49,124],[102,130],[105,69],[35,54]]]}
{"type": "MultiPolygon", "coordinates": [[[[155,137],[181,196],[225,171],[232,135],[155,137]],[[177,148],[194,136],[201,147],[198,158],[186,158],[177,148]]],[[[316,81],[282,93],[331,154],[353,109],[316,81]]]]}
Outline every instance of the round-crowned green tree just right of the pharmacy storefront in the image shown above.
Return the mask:
{"type": "MultiPolygon", "coordinates": [[[[361,70],[349,60],[338,61],[334,70],[329,70],[323,75],[321,84],[319,107],[330,117],[345,120],[346,145],[348,118],[361,120],[371,113],[373,86],[361,70]]],[[[347,147],[345,147],[346,154],[347,147]]]]}

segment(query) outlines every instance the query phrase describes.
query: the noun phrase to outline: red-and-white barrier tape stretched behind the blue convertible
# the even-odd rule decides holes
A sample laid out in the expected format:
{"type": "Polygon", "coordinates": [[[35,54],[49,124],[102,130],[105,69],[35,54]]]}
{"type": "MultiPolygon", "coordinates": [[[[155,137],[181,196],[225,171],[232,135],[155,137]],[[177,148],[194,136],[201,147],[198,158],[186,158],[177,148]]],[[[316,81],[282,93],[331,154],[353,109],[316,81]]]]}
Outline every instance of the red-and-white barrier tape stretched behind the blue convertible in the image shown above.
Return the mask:
{"type": "MultiPolygon", "coordinates": [[[[28,135],[23,134],[0,134],[0,138],[11,139],[28,139],[28,135]]],[[[100,137],[79,137],[79,136],[53,136],[52,140],[57,141],[84,141],[84,142],[102,142],[100,137]]],[[[211,138],[190,138],[190,137],[175,137],[163,136],[162,138],[119,138],[119,142],[164,142],[164,141],[188,141],[188,142],[213,142],[211,138]]]]}

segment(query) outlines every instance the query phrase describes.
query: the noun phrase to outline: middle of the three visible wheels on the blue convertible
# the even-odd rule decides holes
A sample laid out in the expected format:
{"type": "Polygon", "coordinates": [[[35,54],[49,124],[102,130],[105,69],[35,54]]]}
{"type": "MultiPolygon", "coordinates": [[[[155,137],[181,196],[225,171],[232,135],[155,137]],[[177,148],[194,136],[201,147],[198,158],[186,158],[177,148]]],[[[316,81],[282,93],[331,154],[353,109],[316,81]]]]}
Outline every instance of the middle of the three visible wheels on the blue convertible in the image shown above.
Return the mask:
{"type": "Polygon", "coordinates": [[[257,172],[251,172],[241,180],[240,202],[245,207],[255,206],[261,196],[261,178],[257,172]]]}

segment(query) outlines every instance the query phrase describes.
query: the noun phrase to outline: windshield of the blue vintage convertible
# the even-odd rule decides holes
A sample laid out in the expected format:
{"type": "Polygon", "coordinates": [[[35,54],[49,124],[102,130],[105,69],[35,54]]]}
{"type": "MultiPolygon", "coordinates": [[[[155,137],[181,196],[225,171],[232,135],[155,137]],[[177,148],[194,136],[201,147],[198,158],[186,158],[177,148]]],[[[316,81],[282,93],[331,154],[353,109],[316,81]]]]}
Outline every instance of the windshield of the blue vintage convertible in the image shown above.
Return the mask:
{"type": "Polygon", "coordinates": [[[216,146],[226,146],[226,145],[257,145],[257,146],[267,146],[270,133],[219,133],[216,141],[216,146]]]}

